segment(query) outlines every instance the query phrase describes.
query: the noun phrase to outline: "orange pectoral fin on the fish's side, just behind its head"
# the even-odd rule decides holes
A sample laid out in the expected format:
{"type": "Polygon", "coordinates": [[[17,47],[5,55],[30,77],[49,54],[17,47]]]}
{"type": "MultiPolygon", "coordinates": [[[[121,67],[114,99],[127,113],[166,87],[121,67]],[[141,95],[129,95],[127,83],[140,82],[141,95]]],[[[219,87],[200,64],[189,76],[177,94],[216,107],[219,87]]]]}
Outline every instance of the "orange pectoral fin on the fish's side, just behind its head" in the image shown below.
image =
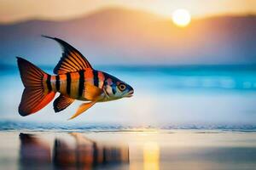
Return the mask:
{"type": "Polygon", "coordinates": [[[103,93],[102,88],[98,88],[90,83],[84,83],[84,98],[94,101],[103,93]]]}

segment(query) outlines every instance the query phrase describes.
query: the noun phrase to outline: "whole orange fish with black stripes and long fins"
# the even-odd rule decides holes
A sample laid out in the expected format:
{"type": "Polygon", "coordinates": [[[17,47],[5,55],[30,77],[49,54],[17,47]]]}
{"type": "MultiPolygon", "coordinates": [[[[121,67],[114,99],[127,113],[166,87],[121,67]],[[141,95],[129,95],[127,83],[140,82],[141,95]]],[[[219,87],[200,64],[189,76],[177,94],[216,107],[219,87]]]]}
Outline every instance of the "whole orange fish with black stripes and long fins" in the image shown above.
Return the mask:
{"type": "Polygon", "coordinates": [[[55,112],[65,110],[77,100],[83,101],[78,110],[69,118],[73,119],[98,102],[130,98],[134,89],[117,77],[96,71],[90,62],[69,43],[57,37],[42,36],[55,40],[61,45],[62,56],[50,75],[26,59],[17,58],[20,78],[24,85],[19,105],[20,116],[29,116],[48,105],[55,98],[55,112]]]}

